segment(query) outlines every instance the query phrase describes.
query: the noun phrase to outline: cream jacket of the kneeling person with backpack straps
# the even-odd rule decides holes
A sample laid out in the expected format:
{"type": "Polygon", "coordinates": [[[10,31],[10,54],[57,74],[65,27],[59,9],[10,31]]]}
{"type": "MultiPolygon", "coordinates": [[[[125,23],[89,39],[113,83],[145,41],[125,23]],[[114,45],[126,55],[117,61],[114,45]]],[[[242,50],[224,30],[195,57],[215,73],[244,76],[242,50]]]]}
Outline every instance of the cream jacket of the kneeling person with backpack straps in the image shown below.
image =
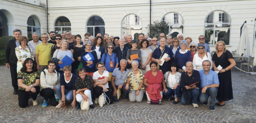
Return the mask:
{"type": "Polygon", "coordinates": [[[53,74],[49,73],[48,69],[44,69],[40,75],[40,91],[44,88],[53,89],[55,86],[60,85],[59,83],[59,72],[54,69],[53,74]],[[45,75],[44,75],[45,73],[45,75]]]}

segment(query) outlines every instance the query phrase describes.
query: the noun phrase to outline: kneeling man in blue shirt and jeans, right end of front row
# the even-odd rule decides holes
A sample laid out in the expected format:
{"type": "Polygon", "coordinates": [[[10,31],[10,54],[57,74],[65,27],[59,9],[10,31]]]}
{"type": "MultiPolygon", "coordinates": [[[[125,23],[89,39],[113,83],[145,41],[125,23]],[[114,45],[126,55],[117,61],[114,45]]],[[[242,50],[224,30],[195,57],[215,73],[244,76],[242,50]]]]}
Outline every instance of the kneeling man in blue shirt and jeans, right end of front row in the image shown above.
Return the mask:
{"type": "Polygon", "coordinates": [[[199,100],[203,102],[203,105],[208,105],[209,96],[211,96],[210,110],[215,110],[215,100],[218,93],[217,87],[219,87],[218,74],[210,70],[211,62],[209,60],[203,61],[203,70],[199,71],[200,74],[200,84],[202,88],[202,93],[199,100]]]}

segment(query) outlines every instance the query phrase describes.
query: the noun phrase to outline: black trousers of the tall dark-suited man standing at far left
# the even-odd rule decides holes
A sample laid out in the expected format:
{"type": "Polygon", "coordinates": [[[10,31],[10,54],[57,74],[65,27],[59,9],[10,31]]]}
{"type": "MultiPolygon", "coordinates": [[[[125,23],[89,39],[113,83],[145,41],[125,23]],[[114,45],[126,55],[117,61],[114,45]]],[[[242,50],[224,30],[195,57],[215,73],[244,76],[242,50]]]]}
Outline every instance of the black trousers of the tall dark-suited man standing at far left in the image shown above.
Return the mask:
{"type": "Polygon", "coordinates": [[[10,71],[11,71],[11,78],[12,78],[12,85],[14,90],[18,90],[18,73],[17,73],[17,63],[9,63],[10,64],[10,71]]]}

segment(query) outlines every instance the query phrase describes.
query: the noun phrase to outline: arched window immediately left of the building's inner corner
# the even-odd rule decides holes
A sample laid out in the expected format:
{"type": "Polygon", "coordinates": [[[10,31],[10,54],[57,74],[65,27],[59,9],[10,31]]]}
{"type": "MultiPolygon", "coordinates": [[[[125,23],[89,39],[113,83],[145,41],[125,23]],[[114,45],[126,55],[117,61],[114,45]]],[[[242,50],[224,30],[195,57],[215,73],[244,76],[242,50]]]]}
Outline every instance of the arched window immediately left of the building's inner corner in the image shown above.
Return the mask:
{"type": "Polygon", "coordinates": [[[35,16],[30,16],[27,21],[28,24],[28,38],[32,38],[32,33],[36,32],[38,36],[41,35],[41,26],[40,22],[35,16]]]}

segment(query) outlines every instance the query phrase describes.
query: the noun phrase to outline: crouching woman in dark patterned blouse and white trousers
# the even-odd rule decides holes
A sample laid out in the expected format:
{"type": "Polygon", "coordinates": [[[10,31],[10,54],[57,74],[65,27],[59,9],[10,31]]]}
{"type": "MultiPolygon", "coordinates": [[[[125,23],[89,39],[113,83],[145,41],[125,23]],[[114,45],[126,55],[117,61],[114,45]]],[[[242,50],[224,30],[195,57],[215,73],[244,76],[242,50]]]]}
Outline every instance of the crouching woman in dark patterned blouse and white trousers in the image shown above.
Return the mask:
{"type": "Polygon", "coordinates": [[[93,79],[91,76],[86,75],[85,68],[80,68],[77,71],[79,77],[75,81],[76,86],[76,101],[81,102],[89,101],[90,108],[94,108],[91,97],[93,95],[93,79]]]}

